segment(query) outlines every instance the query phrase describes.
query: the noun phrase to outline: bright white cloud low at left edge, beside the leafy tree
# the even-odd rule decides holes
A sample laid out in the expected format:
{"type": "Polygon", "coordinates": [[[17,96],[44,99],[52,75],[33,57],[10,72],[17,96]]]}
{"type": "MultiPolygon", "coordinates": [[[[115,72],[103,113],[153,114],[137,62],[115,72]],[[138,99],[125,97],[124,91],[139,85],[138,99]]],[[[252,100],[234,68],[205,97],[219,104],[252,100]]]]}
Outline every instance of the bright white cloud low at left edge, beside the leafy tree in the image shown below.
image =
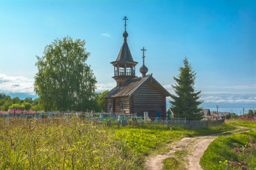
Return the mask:
{"type": "Polygon", "coordinates": [[[0,74],[0,93],[34,93],[34,80],[0,74]]]}

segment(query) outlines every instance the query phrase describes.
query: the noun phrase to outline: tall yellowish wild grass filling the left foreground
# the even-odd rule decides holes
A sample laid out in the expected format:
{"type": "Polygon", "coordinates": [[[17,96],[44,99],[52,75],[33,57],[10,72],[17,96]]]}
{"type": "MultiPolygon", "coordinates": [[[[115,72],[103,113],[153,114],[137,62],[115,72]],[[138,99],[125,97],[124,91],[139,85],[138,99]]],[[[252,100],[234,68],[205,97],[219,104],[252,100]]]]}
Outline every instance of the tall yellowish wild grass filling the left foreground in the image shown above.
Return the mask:
{"type": "Polygon", "coordinates": [[[78,118],[0,119],[0,169],[138,169],[136,152],[78,118]]]}

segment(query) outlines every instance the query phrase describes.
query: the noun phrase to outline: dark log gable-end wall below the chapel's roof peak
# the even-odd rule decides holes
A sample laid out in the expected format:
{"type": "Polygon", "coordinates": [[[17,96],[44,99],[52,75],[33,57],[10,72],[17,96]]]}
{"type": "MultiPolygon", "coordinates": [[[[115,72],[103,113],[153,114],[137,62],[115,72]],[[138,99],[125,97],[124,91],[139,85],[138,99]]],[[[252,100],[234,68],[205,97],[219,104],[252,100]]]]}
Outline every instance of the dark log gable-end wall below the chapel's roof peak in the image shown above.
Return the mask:
{"type": "Polygon", "coordinates": [[[165,95],[157,89],[157,85],[148,81],[134,94],[132,110],[141,116],[143,116],[143,112],[148,112],[149,117],[157,117],[157,112],[160,111],[160,116],[165,117],[165,102],[165,95]]]}

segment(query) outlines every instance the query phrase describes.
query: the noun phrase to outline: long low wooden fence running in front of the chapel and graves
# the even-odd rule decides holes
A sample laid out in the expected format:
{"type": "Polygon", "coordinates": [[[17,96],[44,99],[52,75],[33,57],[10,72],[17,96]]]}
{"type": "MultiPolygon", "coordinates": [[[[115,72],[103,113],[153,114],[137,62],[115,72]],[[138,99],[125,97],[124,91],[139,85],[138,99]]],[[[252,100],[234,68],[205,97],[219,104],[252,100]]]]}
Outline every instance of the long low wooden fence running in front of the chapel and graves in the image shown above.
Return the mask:
{"type": "Polygon", "coordinates": [[[25,119],[31,118],[60,118],[78,116],[83,119],[92,121],[95,125],[104,125],[110,128],[208,128],[211,126],[222,125],[225,120],[186,120],[186,118],[175,118],[171,120],[159,119],[153,117],[152,120],[143,120],[143,117],[136,117],[134,115],[117,115],[117,114],[102,114],[97,113],[55,113],[55,112],[42,112],[42,113],[10,113],[0,114],[0,117],[20,117],[25,119]]]}

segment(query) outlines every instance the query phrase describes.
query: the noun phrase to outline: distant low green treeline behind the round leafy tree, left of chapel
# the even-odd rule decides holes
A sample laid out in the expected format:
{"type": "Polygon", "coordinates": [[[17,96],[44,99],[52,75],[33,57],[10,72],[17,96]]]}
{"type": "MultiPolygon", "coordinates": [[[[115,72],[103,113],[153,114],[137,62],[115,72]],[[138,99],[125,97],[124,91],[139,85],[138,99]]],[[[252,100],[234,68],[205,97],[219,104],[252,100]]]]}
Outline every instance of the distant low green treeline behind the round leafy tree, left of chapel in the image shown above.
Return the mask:
{"type": "MultiPolygon", "coordinates": [[[[84,108],[83,110],[76,110],[76,108],[72,109],[83,112],[91,111],[93,109],[95,112],[102,112],[105,110],[105,99],[101,98],[106,93],[108,93],[108,90],[103,91],[102,93],[96,93],[94,100],[92,100],[90,104],[85,104],[90,105],[88,108],[84,108]]],[[[31,97],[27,97],[25,99],[20,99],[19,97],[12,98],[5,93],[0,93],[0,110],[8,111],[10,109],[49,111],[45,110],[45,106],[40,98],[34,98],[34,100],[31,97]]]]}

